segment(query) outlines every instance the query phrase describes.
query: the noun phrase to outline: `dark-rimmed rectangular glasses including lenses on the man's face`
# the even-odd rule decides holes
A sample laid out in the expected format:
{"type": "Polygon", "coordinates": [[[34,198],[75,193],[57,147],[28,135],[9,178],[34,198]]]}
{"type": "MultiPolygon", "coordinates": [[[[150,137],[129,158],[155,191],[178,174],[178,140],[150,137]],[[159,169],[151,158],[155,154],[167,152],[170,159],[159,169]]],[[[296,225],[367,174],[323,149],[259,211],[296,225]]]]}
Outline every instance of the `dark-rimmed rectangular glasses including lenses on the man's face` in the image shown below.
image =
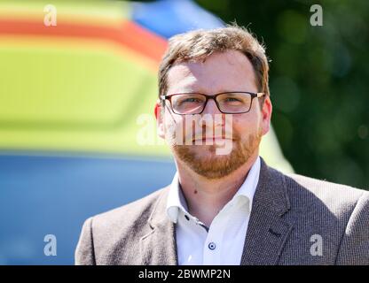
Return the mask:
{"type": "Polygon", "coordinates": [[[160,96],[161,100],[169,100],[172,111],[180,115],[201,114],[208,100],[214,99],[219,111],[224,114],[240,114],[250,111],[255,97],[264,96],[263,92],[253,93],[245,91],[230,91],[213,96],[199,93],[173,94],[160,96]]]}

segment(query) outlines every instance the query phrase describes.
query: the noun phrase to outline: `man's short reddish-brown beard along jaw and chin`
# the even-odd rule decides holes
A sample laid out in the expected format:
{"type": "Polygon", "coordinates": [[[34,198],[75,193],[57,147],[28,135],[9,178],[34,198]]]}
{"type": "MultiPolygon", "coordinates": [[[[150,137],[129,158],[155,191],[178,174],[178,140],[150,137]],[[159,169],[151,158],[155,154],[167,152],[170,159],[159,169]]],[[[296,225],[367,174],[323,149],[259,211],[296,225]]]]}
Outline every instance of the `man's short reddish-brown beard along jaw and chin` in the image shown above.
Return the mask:
{"type": "MultiPolygon", "coordinates": [[[[233,131],[232,151],[228,155],[216,155],[216,144],[212,145],[177,145],[172,149],[175,156],[185,163],[193,172],[208,180],[216,180],[230,175],[247,163],[255,153],[262,140],[261,128],[247,137],[241,136],[233,131]],[[207,152],[206,156],[199,152],[207,152]]],[[[229,141],[227,141],[229,142],[229,141]]]]}

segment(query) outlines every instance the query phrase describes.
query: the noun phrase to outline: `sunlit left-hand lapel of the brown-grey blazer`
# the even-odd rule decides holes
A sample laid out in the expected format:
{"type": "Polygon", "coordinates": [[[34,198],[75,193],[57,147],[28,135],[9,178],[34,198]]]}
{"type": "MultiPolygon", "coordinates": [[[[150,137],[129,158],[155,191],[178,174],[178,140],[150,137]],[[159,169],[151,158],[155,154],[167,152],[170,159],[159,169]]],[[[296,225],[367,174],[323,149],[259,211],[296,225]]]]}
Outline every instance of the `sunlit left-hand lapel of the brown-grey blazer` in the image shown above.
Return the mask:
{"type": "Polygon", "coordinates": [[[165,211],[168,191],[163,189],[149,218],[151,231],[140,239],[142,265],[177,265],[175,224],[165,211]]]}

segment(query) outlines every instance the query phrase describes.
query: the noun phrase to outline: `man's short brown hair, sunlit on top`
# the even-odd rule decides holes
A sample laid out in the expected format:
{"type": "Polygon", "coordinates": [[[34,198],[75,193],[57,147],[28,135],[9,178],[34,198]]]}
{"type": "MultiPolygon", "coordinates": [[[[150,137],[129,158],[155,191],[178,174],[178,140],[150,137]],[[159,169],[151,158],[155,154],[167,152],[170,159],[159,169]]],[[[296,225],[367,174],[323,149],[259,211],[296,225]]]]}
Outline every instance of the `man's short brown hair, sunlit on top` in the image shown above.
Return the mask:
{"type": "Polygon", "coordinates": [[[210,30],[199,29],[171,37],[159,67],[159,96],[166,95],[169,69],[175,63],[205,61],[214,52],[226,50],[237,50],[247,56],[254,67],[258,91],[269,96],[269,65],[263,44],[245,27],[237,25],[210,30]]]}

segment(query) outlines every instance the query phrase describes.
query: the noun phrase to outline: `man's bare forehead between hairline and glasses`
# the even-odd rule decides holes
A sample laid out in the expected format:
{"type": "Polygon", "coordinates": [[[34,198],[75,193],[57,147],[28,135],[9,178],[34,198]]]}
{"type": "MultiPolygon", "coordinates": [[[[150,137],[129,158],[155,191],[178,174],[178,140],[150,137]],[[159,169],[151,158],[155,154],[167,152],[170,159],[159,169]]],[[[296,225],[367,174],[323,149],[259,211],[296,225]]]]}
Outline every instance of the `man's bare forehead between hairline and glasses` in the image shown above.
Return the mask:
{"type": "Polygon", "coordinates": [[[257,92],[253,65],[239,51],[216,52],[205,62],[177,63],[168,73],[168,94],[231,90],[257,92]]]}

